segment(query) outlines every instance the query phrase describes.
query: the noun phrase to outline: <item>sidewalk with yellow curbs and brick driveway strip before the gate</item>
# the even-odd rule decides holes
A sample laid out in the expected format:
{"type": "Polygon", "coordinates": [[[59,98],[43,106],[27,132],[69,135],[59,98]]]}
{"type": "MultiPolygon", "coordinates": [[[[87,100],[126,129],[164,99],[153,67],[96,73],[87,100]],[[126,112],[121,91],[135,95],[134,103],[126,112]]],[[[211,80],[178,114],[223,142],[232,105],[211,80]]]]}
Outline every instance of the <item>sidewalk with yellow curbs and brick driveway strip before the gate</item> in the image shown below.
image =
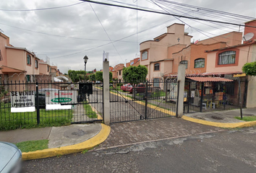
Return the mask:
{"type": "MultiPolygon", "coordinates": [[[[244,109],[243,115],[256,115],[256,108],[244,109]]],[[[41,159],[85,151],[103,143],[107,138],[99,148],[126,146],[133,143],[163,140],[164,138],[191,136],[197,133],[211,133],[221,130],[221,128],[256,125],[256,121],[244,122],[236,120],[234,118],[236,116],[240,116],[240,110],[195,112],[184,115],[183,120],[176,117],[167,117],[115,123],[111,125],[111,128],[108,125],[94,123],[52,128],[17,129],[0,131],[0,141],[18,143],[48,139],[48,149],[22,153],[22,159],[25,160],[41,159]]]]}

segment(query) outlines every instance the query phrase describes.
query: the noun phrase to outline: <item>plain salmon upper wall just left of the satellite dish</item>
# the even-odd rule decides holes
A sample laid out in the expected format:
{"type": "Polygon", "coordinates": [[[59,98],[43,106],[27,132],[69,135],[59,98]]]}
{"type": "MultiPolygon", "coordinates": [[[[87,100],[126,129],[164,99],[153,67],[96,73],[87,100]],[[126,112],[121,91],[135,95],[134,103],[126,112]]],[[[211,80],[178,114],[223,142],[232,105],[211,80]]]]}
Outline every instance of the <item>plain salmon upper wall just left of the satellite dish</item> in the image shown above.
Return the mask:
{"type": "Polygon", "coordinates": [[[218,35],[216,37],[210,37],[205,40],[199,41],[197,44],[213,44],[218,42],[226,42],[227,46],[242,44],[242,32],[229,32],[223,35],[218,35]]]}

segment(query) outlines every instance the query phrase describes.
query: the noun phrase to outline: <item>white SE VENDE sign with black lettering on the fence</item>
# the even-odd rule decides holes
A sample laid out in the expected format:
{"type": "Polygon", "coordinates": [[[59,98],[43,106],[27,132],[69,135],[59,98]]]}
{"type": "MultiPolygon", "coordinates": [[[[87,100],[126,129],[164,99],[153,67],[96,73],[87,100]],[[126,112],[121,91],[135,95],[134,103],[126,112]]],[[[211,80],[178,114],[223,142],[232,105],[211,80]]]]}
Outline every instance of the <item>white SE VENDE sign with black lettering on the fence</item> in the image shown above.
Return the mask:
{"type": "Polygon", "coordinates": [[[11,112],[34,112],[35,92],[11,92],[11,112]]]}

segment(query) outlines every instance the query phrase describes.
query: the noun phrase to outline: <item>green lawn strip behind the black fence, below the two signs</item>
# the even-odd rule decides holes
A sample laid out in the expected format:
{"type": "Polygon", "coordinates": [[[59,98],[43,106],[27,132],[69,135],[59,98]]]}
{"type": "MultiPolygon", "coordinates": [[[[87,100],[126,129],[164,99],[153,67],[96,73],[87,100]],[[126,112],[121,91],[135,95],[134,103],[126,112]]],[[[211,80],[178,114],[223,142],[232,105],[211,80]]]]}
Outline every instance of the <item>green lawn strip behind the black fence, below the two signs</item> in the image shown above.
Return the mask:
{"type": "Polygon", "coordinates": [[[0,130],[14,130],[17,128],[43,128],[70,125],[73,110],[44,110],[40,109],[40,124],[37,125],[35,112],[11,112],[10,104],[1,104],[0,130]]]}

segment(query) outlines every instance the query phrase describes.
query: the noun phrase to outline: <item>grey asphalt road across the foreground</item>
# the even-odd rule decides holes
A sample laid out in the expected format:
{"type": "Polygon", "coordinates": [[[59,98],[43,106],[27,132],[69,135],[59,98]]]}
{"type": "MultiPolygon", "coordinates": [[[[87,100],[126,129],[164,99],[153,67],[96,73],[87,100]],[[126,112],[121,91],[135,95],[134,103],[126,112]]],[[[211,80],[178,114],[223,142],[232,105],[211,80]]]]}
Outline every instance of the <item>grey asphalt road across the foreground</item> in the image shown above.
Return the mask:
{"type": "Polygon", "coordinates": [[[256,172],[256,128],[25,161],[24,172],[256,172]]]}

